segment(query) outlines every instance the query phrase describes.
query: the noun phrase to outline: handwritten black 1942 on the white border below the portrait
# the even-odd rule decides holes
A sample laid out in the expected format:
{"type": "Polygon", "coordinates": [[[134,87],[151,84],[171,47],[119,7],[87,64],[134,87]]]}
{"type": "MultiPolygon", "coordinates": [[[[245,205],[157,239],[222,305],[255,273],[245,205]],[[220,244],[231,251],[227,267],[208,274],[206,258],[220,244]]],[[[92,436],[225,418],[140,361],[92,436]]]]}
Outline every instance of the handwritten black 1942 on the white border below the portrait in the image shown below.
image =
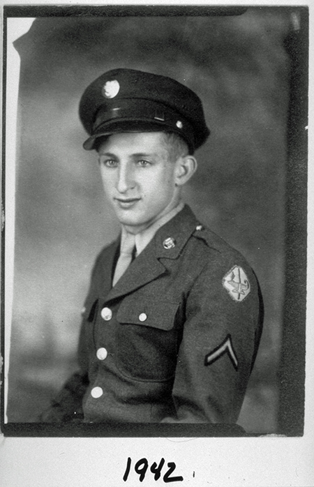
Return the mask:
{"type": "MultiPolygon", "coordinates": [[[[123,477],[125,482],[128,480],[131,463],[132,460],[130,459],[130,457],[128,457],[128,461],[126,463],[126,471],[124,472],[124,477],[123,477]]],[[[140,476],[140,482],[144,480],[145,475],[147,474],[148,471],[150,471],[151,474],[154,475],[154,480],[158,480],[161,477],[161,470],[163,469],[164,465],[165,465],[165,458],[161,458],[158,465],[156,462],[154,462],[151,464],[151,467],[149,468],[149,463],[147,458],[141,458],[135,463],[134,470],[140,476]]],[[[168,482],[183,481],[183,477],[181,477],[181,475],[177,477],[172,475],[175,469],[176,469],[176,464],[174,462],[167,463],[167,471],[163,475],[163,481],[165,482],[165,484],[167,484],[168,482]]]]}

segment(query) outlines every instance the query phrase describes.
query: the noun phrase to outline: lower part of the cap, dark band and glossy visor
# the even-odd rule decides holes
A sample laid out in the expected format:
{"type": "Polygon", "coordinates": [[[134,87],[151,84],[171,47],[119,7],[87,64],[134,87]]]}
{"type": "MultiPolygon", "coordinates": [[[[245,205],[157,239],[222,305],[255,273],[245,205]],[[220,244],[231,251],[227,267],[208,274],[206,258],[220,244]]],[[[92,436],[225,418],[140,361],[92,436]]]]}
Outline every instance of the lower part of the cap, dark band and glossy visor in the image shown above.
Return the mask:
{"type": "Polygon", "coordinates": [[[122,128],[125,128],[126,122],[130,124],[130,131],[167,130],[177,133],[186,140],[191,151],[195,149],[193,126],[185,117],[162,103],[142,98],[120,99],[112,106],[109,103],[102,105],[96,113],[91,137],[84,142],[84,149],[94,149],[96,138],[110,135],[110,130],[115,133],[121,126],[121,131],[124,131],[122,128]]]}

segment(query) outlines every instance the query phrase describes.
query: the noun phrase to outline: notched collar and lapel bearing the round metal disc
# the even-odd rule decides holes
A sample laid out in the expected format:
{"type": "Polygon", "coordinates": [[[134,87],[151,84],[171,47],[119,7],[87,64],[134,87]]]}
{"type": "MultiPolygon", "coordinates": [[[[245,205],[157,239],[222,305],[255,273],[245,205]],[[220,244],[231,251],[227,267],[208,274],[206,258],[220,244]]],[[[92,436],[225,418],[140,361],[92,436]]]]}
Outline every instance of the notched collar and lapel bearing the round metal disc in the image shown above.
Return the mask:
{"type": "MultiPolygon", "coordinates": [[[[190,235],[194,232],[195,223],[195,216],[190,208],[185,206],[180,213],[156,232],[155,237],[144,248],[142,253],[136,257],[132,264],[130,264],[114,287],[110,289],[111,276],[109,286],[106,280],[104,288],[105,290],[110,289],[110,291],[107,293],[105,300],[111,301],[112,299],[129,294],[151,282],[151,280],[167,273],[167,268],[160,262],[160,258],[177,259],[190,238],[190,235]],[[168,238],[173,239],[175,242],[174,247],[169,249],[163,246],[163,242],[168,238]]],[[[113,260],[112,256],[110,261],[111,268],[114,263],[113,260]]]]}

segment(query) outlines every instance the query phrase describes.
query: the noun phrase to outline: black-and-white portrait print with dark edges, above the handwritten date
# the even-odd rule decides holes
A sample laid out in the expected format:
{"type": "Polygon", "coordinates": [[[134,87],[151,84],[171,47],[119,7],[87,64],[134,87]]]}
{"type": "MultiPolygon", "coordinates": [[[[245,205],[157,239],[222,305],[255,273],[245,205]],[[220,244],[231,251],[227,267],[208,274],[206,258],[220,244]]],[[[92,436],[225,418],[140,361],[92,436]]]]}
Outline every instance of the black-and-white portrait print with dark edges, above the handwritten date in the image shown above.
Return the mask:
{"type": "Polygon", "coordinates": [[[23,17],[4,435],[303,435],[308,8],[23,17]]]}

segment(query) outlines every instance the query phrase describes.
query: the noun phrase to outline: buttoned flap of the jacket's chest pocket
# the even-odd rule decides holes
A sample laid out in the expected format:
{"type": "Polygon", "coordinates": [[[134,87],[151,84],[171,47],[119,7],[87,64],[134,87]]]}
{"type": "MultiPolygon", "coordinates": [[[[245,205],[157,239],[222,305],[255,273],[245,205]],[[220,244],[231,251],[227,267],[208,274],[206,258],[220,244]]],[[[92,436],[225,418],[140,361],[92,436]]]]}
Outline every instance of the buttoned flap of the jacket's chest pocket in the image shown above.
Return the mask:
{"type": "Polygon", "coordinates": [[[178,304],[170,301],[155,299],[124,299],[117,313],[117,320],[121,324],[140,324],[160,330],[170,330],[174,327],[174,319],[178,304]]]}

